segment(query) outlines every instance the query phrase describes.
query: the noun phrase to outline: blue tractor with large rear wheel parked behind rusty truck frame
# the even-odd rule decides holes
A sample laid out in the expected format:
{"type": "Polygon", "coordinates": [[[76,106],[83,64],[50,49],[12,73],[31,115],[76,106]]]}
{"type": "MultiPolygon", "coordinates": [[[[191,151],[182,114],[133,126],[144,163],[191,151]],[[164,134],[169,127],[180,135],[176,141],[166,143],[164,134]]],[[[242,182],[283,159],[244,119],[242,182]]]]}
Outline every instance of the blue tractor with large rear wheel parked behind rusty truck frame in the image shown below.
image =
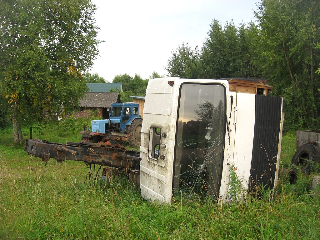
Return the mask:
{"type": "Polygon", "coordinates": [[[139,104],[122,102],[111,104],[109,119],[91,121],[92,132],[85,129],[82,142],[89,144],[114,145],[111,140],[128,140],[133,147],[140,147],[142,118],[139,104]],[[108,139],[108,141],[105,141],[108,139]]]}

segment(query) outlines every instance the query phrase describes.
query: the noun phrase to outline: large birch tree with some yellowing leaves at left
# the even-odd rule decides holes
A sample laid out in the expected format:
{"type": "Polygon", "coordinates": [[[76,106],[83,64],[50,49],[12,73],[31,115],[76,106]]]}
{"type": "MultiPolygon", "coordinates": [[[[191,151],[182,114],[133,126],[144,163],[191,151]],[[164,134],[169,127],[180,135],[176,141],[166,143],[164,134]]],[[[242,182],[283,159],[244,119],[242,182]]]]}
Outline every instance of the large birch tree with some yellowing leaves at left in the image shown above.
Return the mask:
{"type": "Polygon", "coordinates": [[[11,107],[15,142],[23,141],[21,121],[78,105],[81,73],[99,54],[95,10],[90,0],[1,1],[0,94],[11,107]]]}

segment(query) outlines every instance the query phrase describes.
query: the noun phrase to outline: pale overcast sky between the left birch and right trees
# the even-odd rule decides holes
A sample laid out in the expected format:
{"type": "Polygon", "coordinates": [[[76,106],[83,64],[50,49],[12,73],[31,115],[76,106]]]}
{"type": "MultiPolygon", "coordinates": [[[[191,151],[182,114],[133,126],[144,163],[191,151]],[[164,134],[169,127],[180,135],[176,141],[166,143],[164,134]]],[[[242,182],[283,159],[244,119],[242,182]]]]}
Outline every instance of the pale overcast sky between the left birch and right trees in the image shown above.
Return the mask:
{"type": "Polygon", "coordinates": [[[116,75],[139,74],[142,78],[156,71],[167,75],[164,66],[172,51],[182,43],[201,49],[212,19],[222,25],[237,25],[253,19],[259,0],[92,0],[100,28],[100,56],[91,73],[107,82],[116,75]]]}

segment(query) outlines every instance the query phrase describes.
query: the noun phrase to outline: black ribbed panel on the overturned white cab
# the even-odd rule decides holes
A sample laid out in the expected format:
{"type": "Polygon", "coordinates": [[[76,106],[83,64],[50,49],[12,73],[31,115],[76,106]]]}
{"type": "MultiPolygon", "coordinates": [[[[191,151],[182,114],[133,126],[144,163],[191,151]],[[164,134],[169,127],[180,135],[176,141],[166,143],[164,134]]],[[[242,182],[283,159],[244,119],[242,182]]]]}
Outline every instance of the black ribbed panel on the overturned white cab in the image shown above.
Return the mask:
{"type": "Polygon", "coordinates": [[[276,173],[282,99],[256,95],[256,111],[249,189],[273,188],[276,173]]]}

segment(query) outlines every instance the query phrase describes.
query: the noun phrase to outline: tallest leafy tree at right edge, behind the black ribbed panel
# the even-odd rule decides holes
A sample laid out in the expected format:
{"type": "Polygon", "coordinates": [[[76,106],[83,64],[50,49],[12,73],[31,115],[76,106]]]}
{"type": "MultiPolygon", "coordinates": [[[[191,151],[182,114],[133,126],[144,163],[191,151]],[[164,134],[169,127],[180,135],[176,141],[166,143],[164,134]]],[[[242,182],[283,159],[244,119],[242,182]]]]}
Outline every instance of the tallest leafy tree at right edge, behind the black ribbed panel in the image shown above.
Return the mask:
{"type": "Polygon", "coordinates": [[[260,31],[257,66],[284,97],[286,125],[319,124],[320,4],[314,0],[264,0],[256,17],[260,31]]]}

